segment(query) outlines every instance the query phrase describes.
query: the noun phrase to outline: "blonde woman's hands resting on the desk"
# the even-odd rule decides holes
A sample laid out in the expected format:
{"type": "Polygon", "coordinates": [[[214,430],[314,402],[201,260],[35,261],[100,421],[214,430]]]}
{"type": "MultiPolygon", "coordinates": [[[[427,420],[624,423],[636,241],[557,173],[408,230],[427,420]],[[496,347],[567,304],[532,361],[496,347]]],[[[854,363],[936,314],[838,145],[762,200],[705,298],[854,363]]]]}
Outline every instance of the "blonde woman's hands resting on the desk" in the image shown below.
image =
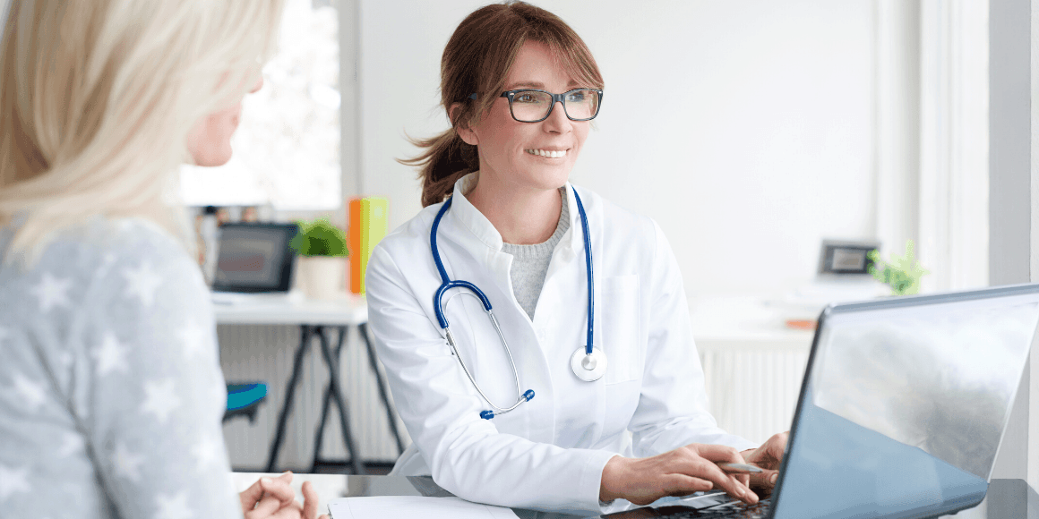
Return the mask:
{"type": "MultiPolygon", "coordinates": [[[[239,493],[245,519],[315,519],[318,494],[314,486],[311,482],[303,483],[303,504],[300,507],[291,483],[292,472],[285,472],[277,477],[261,477],[239,493]]],[[[322,515],[321,519],[327,517],[322,515]]]]}

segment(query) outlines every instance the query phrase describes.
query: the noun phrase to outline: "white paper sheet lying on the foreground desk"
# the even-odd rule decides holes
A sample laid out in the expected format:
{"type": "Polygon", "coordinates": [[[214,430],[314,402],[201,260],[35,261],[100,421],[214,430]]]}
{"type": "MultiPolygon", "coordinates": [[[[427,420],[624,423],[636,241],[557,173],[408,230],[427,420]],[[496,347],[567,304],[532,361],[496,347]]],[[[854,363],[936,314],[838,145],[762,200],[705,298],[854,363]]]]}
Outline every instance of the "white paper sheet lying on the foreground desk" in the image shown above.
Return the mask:
{"type": "Polygon", "coordinates": [[[458,497],[377,496],[341,497],[328,501],[332,519],[518,519],[502,507],[458,497]]]}

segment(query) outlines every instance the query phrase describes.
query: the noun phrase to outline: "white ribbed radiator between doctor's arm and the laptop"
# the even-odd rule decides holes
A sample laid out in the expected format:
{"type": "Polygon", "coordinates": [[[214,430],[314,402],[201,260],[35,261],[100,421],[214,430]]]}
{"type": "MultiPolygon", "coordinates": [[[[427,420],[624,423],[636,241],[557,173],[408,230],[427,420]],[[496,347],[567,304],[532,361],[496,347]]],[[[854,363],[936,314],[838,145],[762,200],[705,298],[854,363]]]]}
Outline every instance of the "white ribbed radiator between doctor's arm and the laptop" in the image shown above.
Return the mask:
{"type": "Polygon", "coordinates": [[[790,430],[807,349],[701,349],[700,361],[719,427],[755,443],[790,430]]]}

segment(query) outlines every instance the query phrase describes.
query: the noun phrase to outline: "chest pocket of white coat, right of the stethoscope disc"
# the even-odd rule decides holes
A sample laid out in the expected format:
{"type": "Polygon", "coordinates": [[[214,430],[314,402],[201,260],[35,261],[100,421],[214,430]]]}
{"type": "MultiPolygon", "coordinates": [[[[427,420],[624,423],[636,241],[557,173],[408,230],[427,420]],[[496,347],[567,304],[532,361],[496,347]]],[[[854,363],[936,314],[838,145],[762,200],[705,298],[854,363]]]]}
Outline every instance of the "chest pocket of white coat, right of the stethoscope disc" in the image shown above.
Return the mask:
{"type": "Polygon", "coordinates": [[[600,343],[608,364],[605,382],[635,380],[642,373],[639,348],[639,276],[603,278],[603,340],[600,343]]]}

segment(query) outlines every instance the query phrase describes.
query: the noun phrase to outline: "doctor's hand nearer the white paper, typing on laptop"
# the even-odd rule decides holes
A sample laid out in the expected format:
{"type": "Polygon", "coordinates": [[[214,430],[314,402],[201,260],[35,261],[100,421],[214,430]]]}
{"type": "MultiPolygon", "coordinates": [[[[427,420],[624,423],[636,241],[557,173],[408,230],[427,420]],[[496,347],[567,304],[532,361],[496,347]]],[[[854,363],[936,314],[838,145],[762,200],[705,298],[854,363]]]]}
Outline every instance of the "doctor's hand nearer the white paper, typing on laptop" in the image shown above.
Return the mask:
{"type": "Polygon", "coordinates": [[[744,463],[744,459],[732,447],[700,443],[652,458],[615,456],[603,469],[598,498],[602,501],[621,498],[635,504],[649,504],[661,497],[721,488],[744,502],[757,502],[757,495],[747,487],[747,475],[726,474],[715,464],[718,462],[744,463]]]}

